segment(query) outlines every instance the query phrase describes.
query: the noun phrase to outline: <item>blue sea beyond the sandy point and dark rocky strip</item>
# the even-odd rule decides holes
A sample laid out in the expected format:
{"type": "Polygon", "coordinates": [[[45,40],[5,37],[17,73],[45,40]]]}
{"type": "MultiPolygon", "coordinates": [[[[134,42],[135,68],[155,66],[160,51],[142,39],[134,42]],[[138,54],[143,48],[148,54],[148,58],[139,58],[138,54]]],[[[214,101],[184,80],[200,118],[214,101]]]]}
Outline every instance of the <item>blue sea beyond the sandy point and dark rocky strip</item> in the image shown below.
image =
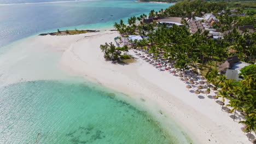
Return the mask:
{"type": "Polygon", "coordinates": [[[57,28],[61,30],[109,28],[113,26],[114,21],[143,13],[148,14],[151,9],[165,9],[170,5],[136,3],[130,0],[80,2],[0,0],[0,47],[34,34],[53,32],[57,28]]]}

